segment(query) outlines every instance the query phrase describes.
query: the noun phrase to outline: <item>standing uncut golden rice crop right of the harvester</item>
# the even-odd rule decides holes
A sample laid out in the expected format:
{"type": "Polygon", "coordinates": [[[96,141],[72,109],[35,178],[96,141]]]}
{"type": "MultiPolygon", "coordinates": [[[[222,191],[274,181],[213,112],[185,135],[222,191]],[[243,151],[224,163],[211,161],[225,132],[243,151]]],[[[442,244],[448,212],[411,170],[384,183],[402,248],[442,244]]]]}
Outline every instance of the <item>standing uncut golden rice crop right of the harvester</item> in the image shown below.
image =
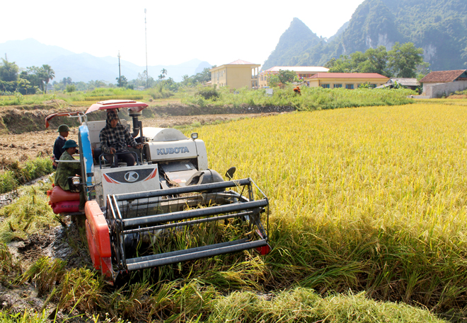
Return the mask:
{"type": "Polygon", "coordinates": [[[467,305],[461,105],[295,112],[199,129],[209,167],[270,199],[267,283],[467,305]]]}

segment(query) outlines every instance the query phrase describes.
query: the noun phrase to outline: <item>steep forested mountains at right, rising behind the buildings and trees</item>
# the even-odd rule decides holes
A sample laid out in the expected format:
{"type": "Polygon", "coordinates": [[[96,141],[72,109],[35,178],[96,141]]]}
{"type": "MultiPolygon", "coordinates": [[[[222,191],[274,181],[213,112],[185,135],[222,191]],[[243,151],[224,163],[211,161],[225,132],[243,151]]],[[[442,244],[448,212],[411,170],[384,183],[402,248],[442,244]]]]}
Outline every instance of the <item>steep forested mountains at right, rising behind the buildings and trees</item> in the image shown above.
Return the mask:
{"type": "Polygon", "coordinates": [[[433,71],[467,65],[465,0],[366,0],[354,12],[345,31],[340,30],[329,41],[316,36],[315,42],[306,42],[306,35],[314,34],[303,23],[296,28],[297,22],[301,23],[294,18],[263,69],[323,66],[341,54],[381,45],[389,50],[395,42],[413,42],[424,49],[425,61],[433,71]]]}

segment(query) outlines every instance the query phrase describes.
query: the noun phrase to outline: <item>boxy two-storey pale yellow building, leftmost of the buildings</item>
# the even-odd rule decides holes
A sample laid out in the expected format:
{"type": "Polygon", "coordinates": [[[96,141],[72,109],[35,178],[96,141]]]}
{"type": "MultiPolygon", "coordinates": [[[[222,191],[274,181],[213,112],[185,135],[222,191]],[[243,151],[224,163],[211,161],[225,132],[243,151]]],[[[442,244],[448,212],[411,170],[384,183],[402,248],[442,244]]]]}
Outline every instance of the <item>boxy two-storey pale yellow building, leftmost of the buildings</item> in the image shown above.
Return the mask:
{"type": "Polygon", "coordinates": [[[211,86],[229,86],[231,89],[245,86],[249,89],[258,88],[258,68],[260,66],[260,64],[238,59],[229,64],[214,67],[214,69],[209,70],[211,72],[211,86]]]}

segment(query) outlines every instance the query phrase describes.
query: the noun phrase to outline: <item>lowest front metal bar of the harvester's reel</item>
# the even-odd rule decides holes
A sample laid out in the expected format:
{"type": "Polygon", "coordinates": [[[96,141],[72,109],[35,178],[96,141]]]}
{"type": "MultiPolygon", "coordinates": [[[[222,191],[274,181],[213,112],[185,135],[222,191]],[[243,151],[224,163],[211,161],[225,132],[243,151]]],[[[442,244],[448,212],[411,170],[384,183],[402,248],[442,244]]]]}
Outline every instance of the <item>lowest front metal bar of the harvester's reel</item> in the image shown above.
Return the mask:
{"type": "Polygon", "coordinates": [[[152,256],[127,259],[128,270],[145,269],[166,264],[175,264],[177,262],[186,262],[205,257],[214,257],[219,254],[228,254],[246,249],[253,249],[267,245],[265,239],[248,241],[240,239],[231,242],[218,243],[216,245],[207,245],[192,249],[178,250],[175,252],[166,252],[165,254],[154,254],[152,256]]]}

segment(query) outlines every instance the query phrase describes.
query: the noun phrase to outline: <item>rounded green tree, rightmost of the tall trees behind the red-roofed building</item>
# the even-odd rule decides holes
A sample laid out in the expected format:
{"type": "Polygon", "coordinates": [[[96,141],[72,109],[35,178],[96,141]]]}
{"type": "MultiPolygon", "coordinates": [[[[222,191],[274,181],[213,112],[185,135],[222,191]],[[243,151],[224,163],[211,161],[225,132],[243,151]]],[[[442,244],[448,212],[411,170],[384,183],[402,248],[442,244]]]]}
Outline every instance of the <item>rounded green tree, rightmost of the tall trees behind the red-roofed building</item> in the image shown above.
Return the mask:
{"type": "Polygon", "coordinates": [[[416,48],[413,42],[406,42],[403,45],[396,42],[393,49],[388,52],[388,66],[398,77],[415,78],[417,68],[428,64],[423,61],[422,48],[416,48]]]}

